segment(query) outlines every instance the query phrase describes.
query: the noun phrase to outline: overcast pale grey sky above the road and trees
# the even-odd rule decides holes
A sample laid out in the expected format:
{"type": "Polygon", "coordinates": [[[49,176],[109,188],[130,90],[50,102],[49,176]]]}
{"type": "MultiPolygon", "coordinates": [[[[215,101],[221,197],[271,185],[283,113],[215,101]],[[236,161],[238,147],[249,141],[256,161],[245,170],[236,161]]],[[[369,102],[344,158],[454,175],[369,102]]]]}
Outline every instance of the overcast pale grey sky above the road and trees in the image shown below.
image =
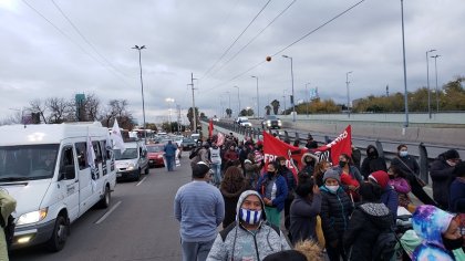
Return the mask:
{"type": "MultiPolygon", "coordinates": [[[[403,92],[400,0],[363,1],[313,33],[359,1],[267,2],[0,0],[0,118],[33,98],[95,93],[102,103],[127,100],[142,119],[138,53],[131,49],[135,44],[146,46],[142,71],[147,122],[166,119],[176,104],[186,114],[190,72],[198,79],[196,106],[209,116],[219,114],[221,103],[228,107],[229,96],[236,113],[238,88],[232,86],[239,87],[241,107],[256,111],[256,79],[250,75],[258,76],[261,114],[275,98],[282,108],[282,96],[291,93],[290,60],[283,54],[293,58],[296,100],[306,98],[310,83],[308,88],[318,86],[321,98],[347,103],[350,71],[351,100],[385,94],[386,85],[390,93],[403,92]],[[167,97],[175,100],[173,105],[167,97]]],[[[431,49],[437,50],[431,55],[441,55],[440,85],[465,75],[465,1],[406,0],[404,21],[409,91],[426,86],[425,52],[431,49]]],[[[430,59],[432,88],[434,76],[430,59]]]]}

